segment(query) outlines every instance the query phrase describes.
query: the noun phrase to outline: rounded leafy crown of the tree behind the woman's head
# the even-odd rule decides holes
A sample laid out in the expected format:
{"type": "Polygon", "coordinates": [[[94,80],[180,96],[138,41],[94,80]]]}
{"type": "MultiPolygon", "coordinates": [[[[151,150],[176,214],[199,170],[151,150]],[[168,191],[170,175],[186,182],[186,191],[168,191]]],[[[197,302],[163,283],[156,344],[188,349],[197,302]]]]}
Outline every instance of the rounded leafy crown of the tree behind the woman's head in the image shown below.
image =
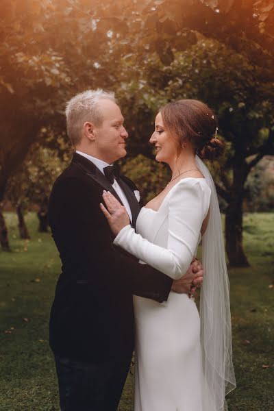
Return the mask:
{"type": "Polygon", "coordinates": [[[273,127],[274,78],[268,69],[249,64],[245,56],[220,42],[200,38],[177,53],[169,67],[151,58],[143,73],[147,81],[143,92],[147,99],[153,96],[158,107],[180,98],[201,99],[216,112],[226,140],[237,142],[240,136],[248,144],[247,152],[267,140],[267,133],[258,132],[273,127]]]}

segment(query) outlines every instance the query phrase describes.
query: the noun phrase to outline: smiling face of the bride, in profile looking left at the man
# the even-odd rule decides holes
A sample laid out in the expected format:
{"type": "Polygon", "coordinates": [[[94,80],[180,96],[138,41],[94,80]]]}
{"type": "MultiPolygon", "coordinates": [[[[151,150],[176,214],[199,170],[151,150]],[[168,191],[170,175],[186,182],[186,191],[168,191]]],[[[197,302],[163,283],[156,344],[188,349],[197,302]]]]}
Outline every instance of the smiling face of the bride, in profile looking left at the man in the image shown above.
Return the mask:
{"type": "Polygon", "coordinates": [[[151,144],[155,145],[156,156],[158,162],[166,162],[171,164],[178,156],[178,144],[172,138],[169,132],[164,129],[162,114],[158,113],[155,118],[155,131],[149,139],[151,144]]]}

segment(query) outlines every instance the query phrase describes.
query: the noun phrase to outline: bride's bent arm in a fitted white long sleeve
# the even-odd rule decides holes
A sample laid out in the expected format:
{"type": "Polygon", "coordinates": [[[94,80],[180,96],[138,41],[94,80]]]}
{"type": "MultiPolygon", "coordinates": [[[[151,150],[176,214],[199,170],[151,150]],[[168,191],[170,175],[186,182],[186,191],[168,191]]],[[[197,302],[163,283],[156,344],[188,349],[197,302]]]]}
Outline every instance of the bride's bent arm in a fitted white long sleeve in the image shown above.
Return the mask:
{"type": "Polygon", "coordinates": [[[142,238],[130,225],[121,229],[114,244],[173,279],[182,277],[195,254],[208,212],[210,190],[207,188],[199,180],[184,179],[173,188],[169,198],[167,248],[142,238]]]}

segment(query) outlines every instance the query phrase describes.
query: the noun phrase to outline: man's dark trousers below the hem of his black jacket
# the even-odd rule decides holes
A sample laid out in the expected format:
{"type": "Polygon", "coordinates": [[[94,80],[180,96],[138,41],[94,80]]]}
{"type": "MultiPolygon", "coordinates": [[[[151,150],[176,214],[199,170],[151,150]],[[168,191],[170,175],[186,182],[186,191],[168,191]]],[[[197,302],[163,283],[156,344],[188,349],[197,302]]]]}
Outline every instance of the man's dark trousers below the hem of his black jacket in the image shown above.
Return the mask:
{"type": "Polygon", "coordinates": [[[132,351],[107,364],[55,355],[61,411],[116,411],[131,360],[132,351]]]}

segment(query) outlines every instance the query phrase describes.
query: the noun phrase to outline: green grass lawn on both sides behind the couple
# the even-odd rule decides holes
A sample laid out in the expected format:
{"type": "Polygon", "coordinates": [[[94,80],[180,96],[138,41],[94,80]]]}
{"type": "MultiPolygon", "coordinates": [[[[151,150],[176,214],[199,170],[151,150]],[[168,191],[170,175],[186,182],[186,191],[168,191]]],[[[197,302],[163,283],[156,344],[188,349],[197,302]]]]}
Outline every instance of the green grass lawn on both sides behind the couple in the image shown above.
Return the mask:
{"type": "MultiPolygon", "coordinates": [[[[5,218],[12,253],[0,251],[0,410],[57,411],[48,319],[60,273],[58,253],[50,234],[37,232],[34,214],[26,216],[31,240],[18,239],[14,214],[5,218]]],[[[273,228],[274,214],[245,216],[251,267],[229,269],[238,384],[228,395],[229,411],[274,410],[273,228]]],[[[119,411],[133,411],[132,375],[119,411]]]]}

